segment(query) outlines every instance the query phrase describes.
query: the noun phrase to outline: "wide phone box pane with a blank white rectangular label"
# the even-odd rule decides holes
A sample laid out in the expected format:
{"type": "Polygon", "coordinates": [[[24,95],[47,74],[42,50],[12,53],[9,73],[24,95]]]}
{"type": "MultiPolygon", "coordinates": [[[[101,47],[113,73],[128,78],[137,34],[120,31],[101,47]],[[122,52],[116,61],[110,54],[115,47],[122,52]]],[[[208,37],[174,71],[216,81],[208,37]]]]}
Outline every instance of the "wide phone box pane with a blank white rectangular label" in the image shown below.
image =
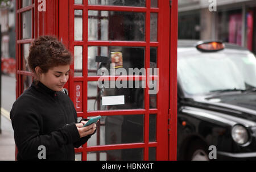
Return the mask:
{"type": "Polygon", "coordinates": [[[106,83],[88,82],[88,109],[87,111],[121,110],[144,108],[144,81],[123,81],[121,88],[117,88],[118,82],[106,83]],[[100,89],[99,86],[108,85],[109,88],[100,89]],[[125,86],[129,86],[124,88],[125,86]],[[112,88],[114,87],[114,88],[112,88]],[[109,99],[109,102],[103,102],[109,99]],[[119,102],[116,102],[118,99],[119,102]],[[113,103],[115,102],[115,103],[113,103]]]}

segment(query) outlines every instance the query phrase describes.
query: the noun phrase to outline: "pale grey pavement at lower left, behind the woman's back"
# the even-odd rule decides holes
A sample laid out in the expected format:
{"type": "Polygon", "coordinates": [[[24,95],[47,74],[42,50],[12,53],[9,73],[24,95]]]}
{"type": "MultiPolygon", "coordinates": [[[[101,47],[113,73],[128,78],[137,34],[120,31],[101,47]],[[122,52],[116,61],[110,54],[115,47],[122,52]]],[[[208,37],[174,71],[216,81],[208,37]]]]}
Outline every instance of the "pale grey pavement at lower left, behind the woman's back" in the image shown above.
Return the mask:
{"type": "Polygon", "coordinates": [[[9,114],[1,109],[0,161],[15,161],[15,142],[9,114]]]}

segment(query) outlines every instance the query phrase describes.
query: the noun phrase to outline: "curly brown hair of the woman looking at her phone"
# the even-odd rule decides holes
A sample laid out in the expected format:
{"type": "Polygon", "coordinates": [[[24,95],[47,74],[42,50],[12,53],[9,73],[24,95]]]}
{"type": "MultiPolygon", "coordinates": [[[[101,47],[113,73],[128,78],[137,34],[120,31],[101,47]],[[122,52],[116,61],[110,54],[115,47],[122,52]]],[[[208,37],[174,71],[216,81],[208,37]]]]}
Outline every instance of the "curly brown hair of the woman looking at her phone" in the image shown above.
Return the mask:
{"type": "Polygon", "coordinates": [[[39,66],[41,73],[47,73],[50,68],[59,65],[70,65],[72,55],[54,36],[40,36],[30,46],[28,66],[33,73],[39,66]]]}

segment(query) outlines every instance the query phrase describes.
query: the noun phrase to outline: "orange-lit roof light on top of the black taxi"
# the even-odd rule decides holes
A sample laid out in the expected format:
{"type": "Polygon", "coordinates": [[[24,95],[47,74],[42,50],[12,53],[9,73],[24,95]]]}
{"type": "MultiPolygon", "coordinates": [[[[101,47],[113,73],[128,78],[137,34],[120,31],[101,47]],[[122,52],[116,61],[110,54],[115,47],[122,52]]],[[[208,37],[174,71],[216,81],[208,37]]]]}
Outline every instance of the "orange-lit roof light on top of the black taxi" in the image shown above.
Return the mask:
{"type": "Polygon", "coordinates": [[[196,48],[203,52],[216,52],[224,49],[225,44],[221,41],[199,42],[196,48]]]}

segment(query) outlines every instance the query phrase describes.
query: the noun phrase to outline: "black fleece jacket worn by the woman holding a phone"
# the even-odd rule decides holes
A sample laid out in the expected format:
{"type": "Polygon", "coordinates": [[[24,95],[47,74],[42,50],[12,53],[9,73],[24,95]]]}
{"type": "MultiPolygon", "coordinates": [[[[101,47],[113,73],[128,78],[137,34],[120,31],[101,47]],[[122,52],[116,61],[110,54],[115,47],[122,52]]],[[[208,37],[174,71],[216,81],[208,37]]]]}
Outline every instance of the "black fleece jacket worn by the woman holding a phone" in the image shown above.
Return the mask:
{"type": "Polygon", "coordinates": [[[18,148],[17,160],[39,160],[38,154],[43,150],[40,145],[46,148],[46,160],[75,160],[74,147],[85,144],[92,136],[80,139],[72,100],[41,82],[38,85],[33,82],[20,95],[10,118],[18,148]]]}

